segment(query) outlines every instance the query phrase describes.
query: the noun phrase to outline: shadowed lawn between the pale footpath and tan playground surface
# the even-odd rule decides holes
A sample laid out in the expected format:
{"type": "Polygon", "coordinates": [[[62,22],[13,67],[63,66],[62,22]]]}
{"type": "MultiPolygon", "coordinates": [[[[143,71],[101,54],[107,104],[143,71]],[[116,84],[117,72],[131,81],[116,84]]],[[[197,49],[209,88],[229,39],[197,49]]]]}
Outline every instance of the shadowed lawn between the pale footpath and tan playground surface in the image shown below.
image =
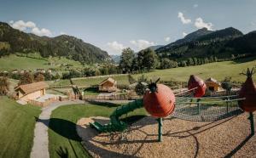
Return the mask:
{"type": "MultiPolygon", "coordinates": [[[[76,122],[82,117],[108,117],[117,106],[113,104],[73,104],[62,106],[53,111],[49,121],[49,155],[50,157],[90,157],[84,150],[76,133],[76,122]]],[[[144,115],[145,110],[134,110],[129,114],[144,115]]]]}

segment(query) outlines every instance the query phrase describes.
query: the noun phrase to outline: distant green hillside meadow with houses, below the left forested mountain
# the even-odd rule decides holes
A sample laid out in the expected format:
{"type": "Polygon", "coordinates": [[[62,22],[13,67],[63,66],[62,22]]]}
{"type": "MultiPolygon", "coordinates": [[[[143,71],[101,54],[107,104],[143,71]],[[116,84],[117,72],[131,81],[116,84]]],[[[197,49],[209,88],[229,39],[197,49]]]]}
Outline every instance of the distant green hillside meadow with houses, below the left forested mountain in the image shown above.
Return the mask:
{"type": "MultiPolygon", "coordinates": [[[[35,55],[33,55],[35,56],[35,55]]],[[[41,57],[42,58],[42,57],[41,57]]],[[[15,54],[11,54],[9,56],[4,56],[0,58],[0,71],[12,71],[12,70],[35,70],[35,69],[64,69],[60,68],[57,64],[69,64],[73,65],[73,67],[83,67],[78,61],[74,61],[66,58],[52,58],[55,65],[49,65],[49,59],[34,59],[17,56],[15,54]]]]}

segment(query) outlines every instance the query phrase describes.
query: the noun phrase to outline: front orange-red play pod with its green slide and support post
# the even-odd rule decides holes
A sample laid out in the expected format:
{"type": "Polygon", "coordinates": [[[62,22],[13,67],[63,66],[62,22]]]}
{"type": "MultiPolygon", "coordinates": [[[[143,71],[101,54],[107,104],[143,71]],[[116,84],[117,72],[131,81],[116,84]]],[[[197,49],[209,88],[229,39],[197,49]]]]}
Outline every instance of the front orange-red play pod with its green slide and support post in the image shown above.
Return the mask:
{"type": "MultiPolygon", "coordinates": [[[[160,78],[156,81],[159,82],[160,78]]],[[[174,110],[175,96],[170,87],[153,82],[148,85],[149,90],[145,93],[143,99],[137,99],[129,104],[122,105],[113,111],[110,116],[110,123],[102,125],[99,122],[90,123],[90,127],[96,128],[100,133],[122,132],[128,125],[120,121],[119,117],[136,110],[144,108],[151,116],[157,118],[159,123],[159,138],[162,140],[162,117],[169,116],[174,110]]]]}

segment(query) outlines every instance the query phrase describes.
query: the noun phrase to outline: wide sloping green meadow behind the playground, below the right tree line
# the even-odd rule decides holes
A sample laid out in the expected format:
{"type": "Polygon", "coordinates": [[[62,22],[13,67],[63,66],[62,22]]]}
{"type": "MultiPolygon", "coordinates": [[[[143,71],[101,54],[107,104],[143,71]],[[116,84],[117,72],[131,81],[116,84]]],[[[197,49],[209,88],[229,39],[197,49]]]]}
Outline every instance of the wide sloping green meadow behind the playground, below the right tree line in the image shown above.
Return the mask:
{"type": "MultiPolygon", "coordinates": [[[[251,60],[247,62],[234,62],[234,61],[223,61],[217,63],[210,63],[206,65],[196,65],[189,67],[179,67],[174,69],[166,70],[155,70],[152,72],[144,73],[148,79],[157,79],[160,77],[163,81],[177,81],[177,82],[188,82],[190,75],[200,76],[204,80],[209,77],[213,77],[218,81],[224,80],[224,77],[231,76],[233,81],[244,82],[246,76],[240,75],[241,71],[246,70],[247,67],[252,68],[256,66],[256,60],[251,60]]],[[[143,74],[132,75],[135,78],[142,76],[143,74]]],[[[73,80],[78,86],[90,86],[96,85],[106,79],[106,76],[97,78],[84,78],[79,80],[73,80]]],[[[117,80],[118,84],[129,84],[128,76],[113,76],[117,80]]],[[[256,82],[256,77],[253,77],[256,82]]],[[[61,80],[60,82],[55,82],[56,85],[68,85],[68,80],[61,80]]]]}

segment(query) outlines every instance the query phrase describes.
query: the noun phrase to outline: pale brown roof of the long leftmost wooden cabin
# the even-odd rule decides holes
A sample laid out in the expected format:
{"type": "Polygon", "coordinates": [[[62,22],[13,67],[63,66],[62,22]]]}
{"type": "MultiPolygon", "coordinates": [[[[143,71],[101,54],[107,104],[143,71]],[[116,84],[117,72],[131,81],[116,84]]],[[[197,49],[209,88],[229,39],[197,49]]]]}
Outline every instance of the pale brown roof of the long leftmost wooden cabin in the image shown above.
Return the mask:
{"type": "Polygon", "coordinates": [[[46,87],[49,87],[46,82],[33,82],[30,84],[24,84],[24,85],[15,87],[15,91],[18,91],[19,89],[21,89],[24,93],[28,94],[28,93],[33,93],[38,90],[44,89],[46,87]]]}

